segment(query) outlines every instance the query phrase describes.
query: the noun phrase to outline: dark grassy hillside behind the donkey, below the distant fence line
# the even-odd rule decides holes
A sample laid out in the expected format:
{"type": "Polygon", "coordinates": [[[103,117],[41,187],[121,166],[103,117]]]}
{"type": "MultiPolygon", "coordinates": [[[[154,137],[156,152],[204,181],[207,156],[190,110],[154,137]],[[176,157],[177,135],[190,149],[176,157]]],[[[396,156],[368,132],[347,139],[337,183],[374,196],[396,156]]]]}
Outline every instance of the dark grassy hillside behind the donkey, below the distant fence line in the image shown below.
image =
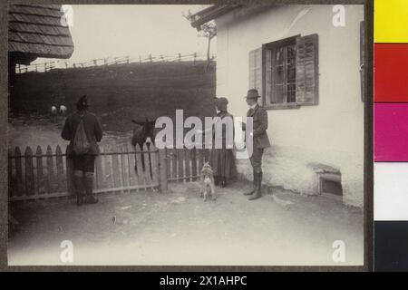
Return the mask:
{"type": "Polygon", "coordinates": [[[174,116],[211,116],[215,113],[215,69],[205,62],[127,63],[91,68],[60,69],[17,74],[10,89],[11,116],[47,116],[52,105],[75,110],[88,95],[90,111],[108,131],[130,131],[131,119],[174,116]]]}

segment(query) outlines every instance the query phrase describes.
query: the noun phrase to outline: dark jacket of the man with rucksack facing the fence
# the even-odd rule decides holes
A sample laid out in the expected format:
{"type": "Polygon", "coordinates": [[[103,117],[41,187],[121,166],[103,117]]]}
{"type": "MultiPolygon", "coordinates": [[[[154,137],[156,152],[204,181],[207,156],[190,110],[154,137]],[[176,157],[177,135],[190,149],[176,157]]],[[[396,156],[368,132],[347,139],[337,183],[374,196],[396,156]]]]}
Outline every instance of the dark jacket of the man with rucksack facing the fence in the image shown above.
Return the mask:
{"type": "MultiPolygon", "coordinates": [[[[81,118],[82,117],[80,116],[79,112],[76,111],[66,118],[65,124],[63,125],[61,137],[63,137],[64,140],[71,141],[68,146],[68,154],[73,153],[73,139],[81,118]]],[[[89,111],[85,111],[85,114],[83,115],[83,128],[85,130],[86,137],[88,137],[88,141],[91,144],[90,154],[99,154],[100,150],[97,142],[102,140],[102,127],[100,122],[96,119],[96,116],[89,111]]]]}

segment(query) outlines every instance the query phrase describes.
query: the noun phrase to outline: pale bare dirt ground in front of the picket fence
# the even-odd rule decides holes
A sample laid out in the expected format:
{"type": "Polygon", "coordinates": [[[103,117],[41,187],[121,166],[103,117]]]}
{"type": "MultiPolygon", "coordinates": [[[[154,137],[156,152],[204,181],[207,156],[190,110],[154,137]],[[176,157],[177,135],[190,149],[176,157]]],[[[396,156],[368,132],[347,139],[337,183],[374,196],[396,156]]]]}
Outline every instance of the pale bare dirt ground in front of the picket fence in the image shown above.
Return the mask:
{"type": "MultiPolygon", "coordinates": [[[[13,207],[20,226],[8,244],[9,265],[63,265],[63,240],[73,242],[70,265],[361,265],[363,214],[335,198],[273,189],[248,201],[248,183],[199,198],[199,184],[171,183],[158,191],[100,195],[95,205],[74,199],[13,207]],[[345,263],[335,263],[335,240],[345,263]]],[[[66,265],[66,264],[65,264],[66,265]]]]}

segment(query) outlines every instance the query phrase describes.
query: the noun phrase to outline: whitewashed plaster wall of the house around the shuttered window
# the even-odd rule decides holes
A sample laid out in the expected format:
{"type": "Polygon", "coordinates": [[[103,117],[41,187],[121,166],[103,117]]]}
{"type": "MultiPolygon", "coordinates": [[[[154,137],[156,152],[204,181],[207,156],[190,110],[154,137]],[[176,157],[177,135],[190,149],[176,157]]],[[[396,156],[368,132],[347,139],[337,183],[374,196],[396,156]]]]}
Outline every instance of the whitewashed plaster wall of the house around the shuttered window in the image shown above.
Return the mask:
{"type": "MultiPolygon", "coordinates": [[[[339,169],[344,201],[363,206],[364,102],[360,89],[360,22],[363,5],[345,5],[345,27],[332,24],[333,5],[283,5],[242,8],[217,19],[217,95],[229,100],[234,116],[248,106],[248,53],[296,34],[319,36],[319,104],[268,110],[269,139],[265,181],[301,193],[316,194],[311,163],[339,169]]],[[[248,160],[238,172],[251,178],[248,160]]]]}

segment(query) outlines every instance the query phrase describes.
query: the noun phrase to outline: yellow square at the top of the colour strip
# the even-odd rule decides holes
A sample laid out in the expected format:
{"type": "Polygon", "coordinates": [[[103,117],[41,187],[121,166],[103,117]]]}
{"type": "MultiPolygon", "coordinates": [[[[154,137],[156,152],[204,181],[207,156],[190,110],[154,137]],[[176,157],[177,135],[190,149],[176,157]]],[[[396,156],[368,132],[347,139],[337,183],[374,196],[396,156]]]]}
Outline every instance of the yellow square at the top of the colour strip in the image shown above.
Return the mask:
{"type": "Polygon", "coordinates": [[[408,43],[408,0],[374,0],[374,43],[408,43]]]}

